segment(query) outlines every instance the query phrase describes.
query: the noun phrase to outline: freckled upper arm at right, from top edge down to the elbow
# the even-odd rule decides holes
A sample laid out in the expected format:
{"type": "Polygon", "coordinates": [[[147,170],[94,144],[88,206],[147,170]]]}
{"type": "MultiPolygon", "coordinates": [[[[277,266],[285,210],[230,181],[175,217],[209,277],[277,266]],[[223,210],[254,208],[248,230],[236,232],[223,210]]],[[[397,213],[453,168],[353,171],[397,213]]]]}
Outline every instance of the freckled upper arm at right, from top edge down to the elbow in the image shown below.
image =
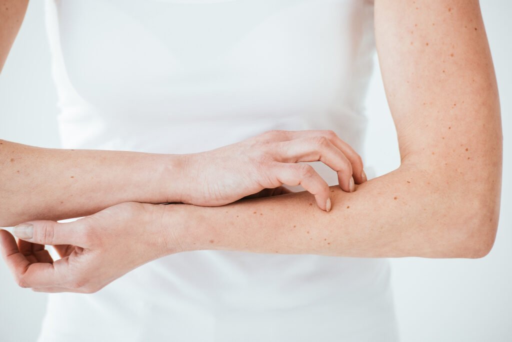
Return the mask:
{"type": "Polygon", "coordinates": [[[375,0],[375,34],[402,164],[432,174],[429,191],[495,234],[502,130],[478,0],[375,0]]]}

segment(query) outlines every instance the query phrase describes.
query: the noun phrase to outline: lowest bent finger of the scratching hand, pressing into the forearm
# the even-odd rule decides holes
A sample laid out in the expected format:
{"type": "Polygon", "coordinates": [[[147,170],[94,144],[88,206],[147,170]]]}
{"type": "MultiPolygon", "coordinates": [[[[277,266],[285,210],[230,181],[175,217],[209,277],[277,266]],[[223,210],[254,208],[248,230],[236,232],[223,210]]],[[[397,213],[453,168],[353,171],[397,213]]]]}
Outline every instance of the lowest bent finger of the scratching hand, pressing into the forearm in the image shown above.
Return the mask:
{"type": "Polygon", "coordinates": [[[306,191],[315,196],[316,204],[322,210],[331,210],[329,186],[308,164],[276,163],[274,171],[281,184],[290,186],[302,185],[306,191]]]}

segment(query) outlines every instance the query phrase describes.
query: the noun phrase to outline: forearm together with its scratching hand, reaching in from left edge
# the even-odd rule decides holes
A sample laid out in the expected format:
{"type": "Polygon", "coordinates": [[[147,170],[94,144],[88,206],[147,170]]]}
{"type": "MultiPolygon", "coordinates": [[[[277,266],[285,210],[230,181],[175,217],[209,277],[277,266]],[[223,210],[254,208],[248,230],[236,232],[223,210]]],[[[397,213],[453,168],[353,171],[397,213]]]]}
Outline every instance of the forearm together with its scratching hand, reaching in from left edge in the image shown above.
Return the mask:
{"type": "Polygon", "coordinates": [[[44,149],[0,140],[0,227],[86,216],[123,202],[221,206],[283,184],[330,210],[320,160],[340,187],[366,181],[360,156],[332,131],[269,131],[211,151],[151,154],[44,149]]]}

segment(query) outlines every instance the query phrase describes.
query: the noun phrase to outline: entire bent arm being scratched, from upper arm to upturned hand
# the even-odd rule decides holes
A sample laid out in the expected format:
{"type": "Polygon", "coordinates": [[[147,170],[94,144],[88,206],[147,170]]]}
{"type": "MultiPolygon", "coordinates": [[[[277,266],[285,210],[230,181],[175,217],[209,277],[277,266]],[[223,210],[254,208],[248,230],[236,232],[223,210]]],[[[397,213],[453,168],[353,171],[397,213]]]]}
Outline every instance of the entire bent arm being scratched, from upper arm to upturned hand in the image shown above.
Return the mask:
{"type": "Polygon", "coordinates": [[[7,232],[0,235],[18,284],[36,291],[95,292],[154,258],[204,249],[485,256],[498,226],[502,130],[479,3],[375,0],[375,34],[398,134],[398,169],[351,193],[332,187],[330,212],[300,192],[219,208],[124,203],[74,223],[32,221],[32,229],[17,231],[35,244],[31,248],[16,246],[7,232]],[[137,241],[138,257],[126,256],[120,241],[137,241]],[[37,244],[72,244],[71,253],[53,264],[35,262],[44,254],[37,244]]]}

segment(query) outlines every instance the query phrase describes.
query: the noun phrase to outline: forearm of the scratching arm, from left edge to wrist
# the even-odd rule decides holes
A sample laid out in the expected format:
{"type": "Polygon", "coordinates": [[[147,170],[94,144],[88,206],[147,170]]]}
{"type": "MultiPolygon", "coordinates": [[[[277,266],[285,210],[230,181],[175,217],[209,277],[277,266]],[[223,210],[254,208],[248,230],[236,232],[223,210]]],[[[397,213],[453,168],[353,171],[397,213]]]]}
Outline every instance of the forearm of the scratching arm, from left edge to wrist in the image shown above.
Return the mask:
{"type": "Polygon", "coordinates": [[[0,227],[64,219],[122,202],[179,202],[181,159],[122,151],[45,149],[0,140],[0,227]]]}

